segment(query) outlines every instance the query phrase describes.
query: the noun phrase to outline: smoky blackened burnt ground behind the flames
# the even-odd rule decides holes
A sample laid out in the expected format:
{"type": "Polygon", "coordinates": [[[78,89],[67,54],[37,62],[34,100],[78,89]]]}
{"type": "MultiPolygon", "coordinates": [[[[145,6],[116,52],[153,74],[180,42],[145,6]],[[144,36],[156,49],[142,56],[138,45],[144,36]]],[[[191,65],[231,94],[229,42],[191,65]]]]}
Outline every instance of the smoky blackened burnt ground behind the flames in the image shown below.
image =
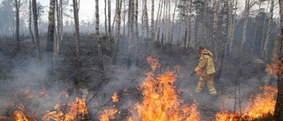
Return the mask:
{"type": "MultiPolygon", "coordinates": [[[[194,93],[197,76],[189,78],[189,74],[197,64],[197,52],[194,49],[183,49],[177,46],[156,44],[151,52],[145,45],[139,50],[138,63],[127,69],[127,46],[128,42],[121,40],[119,43],[118,63],[111,64],[111,55],[103,48],[104,72],[98,68],[96,41],[88,35],[80,37],[80,56],[82,65],[82,81],[78,84],[74,51],[73,36],[64,37],[64,44],[60,53],[55,58],[57,65],[56,74],[46,74],[44,51],[45,38],[41,39],[42,63],[35,60],[35,47],[28,38],[22,38],[20,51],[16,51],[16,42],[3,39],[0,45],[0,116],[10,120],[12,112],[22,110],[27,117],[37,120],[47,110],[54,110],[54,106],[63,102],[72,102],[76,96],[85,97],[89,108],[89,120],[98,120],[101,110],[115,108],[120,110],[115,120],[126,120],[131,114],[129,107],[135,102],[142,102],[142,92],[138,89],[145,79],[146,72],[151,71],[147,63],[147,57],[157,58],[162,65],[155,72],[157,75],[166,72],[167,67],[180,65],[180,72],[174,85],[181,91],[180,98],[183,104],[198,103],[198,111],[202,120],[213,120],[215,114],[221,109],[233,111],[235,107],[235,81],[239,80],[241,88],[241,110],[245,110],[249,96],[258,93],[259,87],[264,86],[264,64],[258,64],[255,59],[245,58],[241,66],[241,74],[236,76],[236,68],[239,67],[237,60],[226,58],[222,76],[215,80],[218,90],[218,99],[212,100],[207,88],[196,95],[194,93]],[[186,82],[187,81],[187,82],[186,82]],[[186,85],[185,85],[186,84],[186,85]],[[77,89],[78,85],[81,86],[77,89]],[[41,92],[45,92],[44,95],[41,92]],[[117,93],[119,102],[109,102],[111,95],[117,93]],[[34,95],[31,97],[31,95],[34,95]]],[[[276,79],[272,79],[271,85],[275,85],[276,79]]],[[[237,92],[239,95],[239,92],[237,92]]],[[[236,107],[240,103],[236,102],[236,107]]],[[[236,108],[238,109],[238,108],[236,108]]],[[[239,110],[239,109],[238,109],[239,110]]],[[[1,119],[1,117],[0,117],[1,119]]]]}

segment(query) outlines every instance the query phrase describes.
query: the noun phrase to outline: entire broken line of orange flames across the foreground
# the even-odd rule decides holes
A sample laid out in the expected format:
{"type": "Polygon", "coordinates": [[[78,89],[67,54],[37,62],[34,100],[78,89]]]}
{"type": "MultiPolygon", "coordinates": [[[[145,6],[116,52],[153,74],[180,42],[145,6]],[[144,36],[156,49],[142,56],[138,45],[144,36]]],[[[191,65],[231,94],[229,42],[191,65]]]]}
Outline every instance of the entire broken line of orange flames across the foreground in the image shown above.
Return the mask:
{"type": "MultiPolygon", "coordinates": [[[[148,62],[152,67],[151,72],[146,73],[146,78],[138,87],[142,91],[142,100],[136,102],[134,105],[129,106],[128,111],[131,116],[127,115],[124,119],[128,121],[201,121],[200,110],[197,109],[197,102],[190,102],[187,105],[180,98],[180,89],[173,85],[174,81],[178,78],[176,74],[180,70],[180,65],[168,68],[166,72],[155,75],[156,68],[160,66],[157,60],[148,57],[148,62]]],[[[276,87],[261,87],[261,94],[252,95],[249,98],[248,107],[241,114],[236,112],[230,113],[227,110],[222,110],[215,115],[214,121],[235,121],[235,120],[256,120],[266,116],[272,116],[275,107],[275,95],[277,94],[276,87]]],[[[50,100],[50,96],[46,94],[47,90],[42,89],[40,93],[32,95],[29,90],[24,90],[23,95],[27,99],[42,98],[50,100]]],[[[58,97],[67,95],[65,89],[58,94],[58,97]]],[[[124,90],[128,92],[127,89],[124,90]]],[[[111,97],[111,102],[119,102],[119,95],[114,93],[111,97]]],[[[92,101],[90,103],[97,103],[92,101]]],[[[130,104],[129,104],[130,105],[130,104]]],[[[5,107],[15,106],[12,103],[5,103],[5,107]]],[[[88,102],[86,99],[76,97],[74,102],[62,102],[54,106],[54,110],[48,111],[41,117],[42,121],[58,120],[58,121],[73,121],[85,120],[86,115],[89,113],[88,102]]],[[[115,105],[111,105],[110,109],[99,108],[99,116],[97,119],[100,121],[110,121],[120,114],[119,109],[115,105]]],[[[13,119],[17,121],[35,121],[34,117],[27,117],[25,108],[18,108],[13,111],[13,119]]],[[[0,117],[6,119],[8,117],[0,117]]]]}

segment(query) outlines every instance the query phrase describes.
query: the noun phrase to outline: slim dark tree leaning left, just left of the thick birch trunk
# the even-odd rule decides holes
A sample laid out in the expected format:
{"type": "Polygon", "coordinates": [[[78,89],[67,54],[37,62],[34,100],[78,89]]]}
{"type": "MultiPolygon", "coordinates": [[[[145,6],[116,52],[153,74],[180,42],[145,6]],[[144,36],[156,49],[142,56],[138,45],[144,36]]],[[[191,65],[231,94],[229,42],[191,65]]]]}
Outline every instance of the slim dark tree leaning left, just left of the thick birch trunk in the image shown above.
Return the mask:
{"type": "Polygon", "coordinates": [[[39,34],[38,34],[38,13],[36,7],[36,0],[32,1],[33,7],[33,16],[34,16],[34,39],[35,39],[35,48],[36,48],[36,60],[40,62],[41,60],[41,52],[40,52],[40,42],[39,42],[39,34]]]}

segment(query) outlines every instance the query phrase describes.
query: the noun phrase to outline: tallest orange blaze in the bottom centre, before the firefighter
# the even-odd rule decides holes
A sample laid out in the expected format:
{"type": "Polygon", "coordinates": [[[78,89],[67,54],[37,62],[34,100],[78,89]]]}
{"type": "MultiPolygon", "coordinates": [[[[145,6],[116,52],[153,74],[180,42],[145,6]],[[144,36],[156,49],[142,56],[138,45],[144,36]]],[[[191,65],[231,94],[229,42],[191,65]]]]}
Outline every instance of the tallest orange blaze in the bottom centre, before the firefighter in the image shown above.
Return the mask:
{"type": "MultiPolygon", "coordinates": [[[[148,57],[152,70],[155,70],[157,61],[152,61],[148,57]]],[[[180,68],[176,66],[175,68],[180,68]]],[[[174,87],[173,82],[177,79],[174,72],[164,72],[154,78],[154,72],[148,72],[146,79],[142,82],[139,89],[142,90],[143,102],[137,102],[135,109],[139,117],[144,121],[198,121],[200,113],[196,111],[196,104],[188,107],[186,104],[182,106],[182,100],[178,92],[180,90],[174,87]]],[[[129,119],[133,120],[133,119],[129,119]]]]}

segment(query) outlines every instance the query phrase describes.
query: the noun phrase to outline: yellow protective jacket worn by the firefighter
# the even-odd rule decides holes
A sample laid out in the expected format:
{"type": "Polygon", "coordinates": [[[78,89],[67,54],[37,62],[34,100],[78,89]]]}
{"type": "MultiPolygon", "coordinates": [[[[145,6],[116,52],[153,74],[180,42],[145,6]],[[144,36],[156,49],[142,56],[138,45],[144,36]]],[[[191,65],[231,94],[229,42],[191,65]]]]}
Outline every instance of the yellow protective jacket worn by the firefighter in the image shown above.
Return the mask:
{"type": "Polygon", "coordinates": [[[203,49],[199,55],[198,64],[195,67],[195,72],[202,72],[203,74],[215,73],[213,64],[213,54],[208,49],[203,49]]]}

